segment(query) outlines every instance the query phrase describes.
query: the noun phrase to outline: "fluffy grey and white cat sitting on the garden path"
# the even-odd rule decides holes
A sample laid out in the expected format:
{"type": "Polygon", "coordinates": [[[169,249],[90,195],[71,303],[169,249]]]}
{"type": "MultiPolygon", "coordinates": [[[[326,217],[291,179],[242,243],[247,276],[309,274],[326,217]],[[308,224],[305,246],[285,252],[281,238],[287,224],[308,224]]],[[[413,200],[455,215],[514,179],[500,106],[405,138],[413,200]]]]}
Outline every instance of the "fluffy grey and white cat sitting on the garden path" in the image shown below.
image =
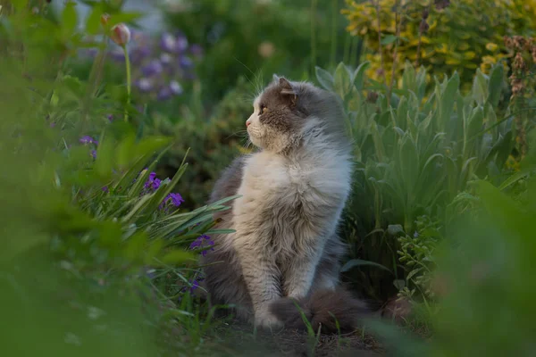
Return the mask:
{"type": "Polygon", "coordinates": [[[335,319],[355,328],[364,303],[339,286],[337,227],[352,173],[339,99],[274,75],[253,106],[247,134],[259,150],[232,162],[210,199],[241,195],[217,216],[236,232],[213,237],[203,258],[211,303],[232,303],[262,328],[305,327],[295,302],[315,330],[335,329],[335,319]]]}

